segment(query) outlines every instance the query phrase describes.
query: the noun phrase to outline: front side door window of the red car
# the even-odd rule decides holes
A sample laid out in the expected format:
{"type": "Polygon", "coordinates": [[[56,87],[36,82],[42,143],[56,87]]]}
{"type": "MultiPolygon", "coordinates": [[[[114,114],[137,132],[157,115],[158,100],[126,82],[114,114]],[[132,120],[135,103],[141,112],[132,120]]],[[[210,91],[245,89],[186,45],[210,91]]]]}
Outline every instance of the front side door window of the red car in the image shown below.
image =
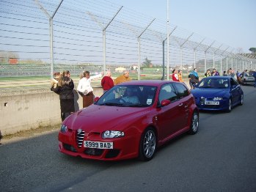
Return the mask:
{"type": "Polygon", "coordinates": [[[178,95],[172,84],[165,84],[164,86],[161,86],[158,103],[161,103],[162,100],[170,100],[171,102],[178,100],[178,95]]]}

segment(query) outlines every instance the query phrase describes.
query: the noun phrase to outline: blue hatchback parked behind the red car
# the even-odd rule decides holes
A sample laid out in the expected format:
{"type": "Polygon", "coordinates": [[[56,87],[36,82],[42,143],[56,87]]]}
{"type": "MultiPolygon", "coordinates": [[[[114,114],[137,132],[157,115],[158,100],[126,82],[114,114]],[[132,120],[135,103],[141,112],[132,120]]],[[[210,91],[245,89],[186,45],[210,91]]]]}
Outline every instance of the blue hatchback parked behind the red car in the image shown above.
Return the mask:
{"type": "Polygon", "coordinates": [[[191,93],[200,110],[230,112],[234,106],[244,103],[244,92],[240,84],[230,76],[202,78],[191,93]]]}

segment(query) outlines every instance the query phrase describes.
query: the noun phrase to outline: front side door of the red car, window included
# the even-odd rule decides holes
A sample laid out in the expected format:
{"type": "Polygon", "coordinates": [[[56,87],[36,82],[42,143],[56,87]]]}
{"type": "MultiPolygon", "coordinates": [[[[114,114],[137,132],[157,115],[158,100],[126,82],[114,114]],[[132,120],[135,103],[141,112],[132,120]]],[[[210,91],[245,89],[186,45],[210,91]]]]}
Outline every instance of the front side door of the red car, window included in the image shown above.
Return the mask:
{"type": "Polygon", "coordinates": [[[167,139],[172,134],[180,130],[183,125],[183,106],[180,106],[178,94],[175,92],[172,84],[164,84],[161,86],[158,96],[158,128],[159,139],[167,139]],[[160,106],[162,100],[170,100],[167,106],[160,106]]]}

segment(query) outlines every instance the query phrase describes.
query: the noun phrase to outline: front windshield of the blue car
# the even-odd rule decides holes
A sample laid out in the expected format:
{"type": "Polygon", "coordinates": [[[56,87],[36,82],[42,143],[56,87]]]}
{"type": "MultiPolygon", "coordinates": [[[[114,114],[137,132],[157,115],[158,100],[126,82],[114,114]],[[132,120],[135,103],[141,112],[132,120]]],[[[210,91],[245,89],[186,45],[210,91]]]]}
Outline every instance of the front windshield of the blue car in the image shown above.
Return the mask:
{"type": "Polygon", "coordinates": [[[230,87],[228,78],[203,78],[197,85],[199,88],[225,89],[230,87]]]}

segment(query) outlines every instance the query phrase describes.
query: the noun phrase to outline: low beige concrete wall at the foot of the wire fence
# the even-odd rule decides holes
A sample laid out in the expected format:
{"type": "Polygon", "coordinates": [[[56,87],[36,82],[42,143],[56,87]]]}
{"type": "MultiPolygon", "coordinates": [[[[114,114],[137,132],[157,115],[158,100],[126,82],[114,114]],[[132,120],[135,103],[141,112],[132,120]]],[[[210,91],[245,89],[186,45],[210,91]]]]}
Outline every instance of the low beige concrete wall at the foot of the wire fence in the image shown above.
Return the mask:
{"type": "MultiPolygon", "coordinates": [[[[103,94],[101,87],[93,89],[96,97],[103,94]]],[[[83,107],[83,100],[76,91],[74,93],[78,111],[83,107]]],[[[2,135],[61,123],[59,95],[51,91],[1,96],[0,103],[2,135]]]]}

